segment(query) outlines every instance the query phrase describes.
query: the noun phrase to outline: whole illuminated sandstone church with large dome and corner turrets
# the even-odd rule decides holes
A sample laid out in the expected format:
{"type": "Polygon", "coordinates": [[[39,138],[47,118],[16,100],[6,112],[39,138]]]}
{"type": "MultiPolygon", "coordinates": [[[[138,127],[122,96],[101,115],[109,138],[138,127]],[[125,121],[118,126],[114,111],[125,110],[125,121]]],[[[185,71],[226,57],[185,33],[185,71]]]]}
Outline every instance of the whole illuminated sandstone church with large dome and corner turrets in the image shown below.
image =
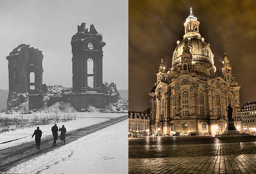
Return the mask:
{"type": "Polygon", "coordinates": [[[216,74],[210,44],[199,33],[199,21],[190,9],[185,34],[177,41],[172,68],[163,60],[155,86],[149,93],[150,132],[163,135],[215,135],[227,127],[227,106],[233,108],[236,129],[241,131],[238,83],[226,53],[222,77],[216,74]]]}

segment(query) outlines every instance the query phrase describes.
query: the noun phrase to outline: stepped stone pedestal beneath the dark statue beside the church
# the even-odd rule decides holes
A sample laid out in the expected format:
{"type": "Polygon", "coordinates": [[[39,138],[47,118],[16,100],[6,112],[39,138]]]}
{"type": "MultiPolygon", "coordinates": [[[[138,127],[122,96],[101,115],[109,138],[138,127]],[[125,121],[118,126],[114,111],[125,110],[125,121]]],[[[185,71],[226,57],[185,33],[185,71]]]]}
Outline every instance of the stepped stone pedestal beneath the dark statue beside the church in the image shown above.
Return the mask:
{"type": "Polygon", "coordinates": [[[236,130],[236,127],[234,125],[234,119],[229,118],[227,121],[227,127],[225,129],[225,132],[220,135],[215,135],[216,138],[222,138],[222,137],[241,137],[241,136],[250,136],[248,133],[239,133],[238,130],[236,130]]]}

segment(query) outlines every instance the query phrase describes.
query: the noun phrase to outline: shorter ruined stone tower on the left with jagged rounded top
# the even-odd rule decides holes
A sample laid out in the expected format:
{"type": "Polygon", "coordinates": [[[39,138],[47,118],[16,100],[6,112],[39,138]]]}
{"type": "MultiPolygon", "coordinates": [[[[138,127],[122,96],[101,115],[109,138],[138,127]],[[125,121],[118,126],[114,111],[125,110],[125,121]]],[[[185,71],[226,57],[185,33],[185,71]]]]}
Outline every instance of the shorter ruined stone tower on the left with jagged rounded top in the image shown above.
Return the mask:
{"type": "MultiPolygon", "coordinates": [[[[13,92],[29,92],[30,96],[30,89],[37,89],[37,97],[34,96],[36,91],[33,91],[31,94],[33,97],[29,98],[29,108],[36,109],[42,107],[42,99],[39,96],[42,95],[41,85],[44,72],[42,61],[44,55],[42,55],[42,51],[29,46],[21,44],[6,57],[9,69],[9,97],[7,102],[11,101],[13,92]]],[[[8,109],[11,108],[8,107],[8,109]]]]}

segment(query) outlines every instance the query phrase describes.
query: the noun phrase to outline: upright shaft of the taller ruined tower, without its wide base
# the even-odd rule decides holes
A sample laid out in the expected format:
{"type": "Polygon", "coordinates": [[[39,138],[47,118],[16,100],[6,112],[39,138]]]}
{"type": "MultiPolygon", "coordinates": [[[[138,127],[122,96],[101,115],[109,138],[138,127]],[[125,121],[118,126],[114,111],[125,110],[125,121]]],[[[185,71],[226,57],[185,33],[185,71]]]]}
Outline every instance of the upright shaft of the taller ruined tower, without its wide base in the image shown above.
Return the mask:
{"type": "Polygon", "coordinates": [[[94,25],[90,25],[90,31],[86,23],[77,26],[78,32],[72,37],[72,72],[73,91],[85,92],[88,90],[102,90],[102,47],[106,45],[102,36],[96,31],[94,25]],[[93,78],[89,86],[88,79],[93,78]]]}

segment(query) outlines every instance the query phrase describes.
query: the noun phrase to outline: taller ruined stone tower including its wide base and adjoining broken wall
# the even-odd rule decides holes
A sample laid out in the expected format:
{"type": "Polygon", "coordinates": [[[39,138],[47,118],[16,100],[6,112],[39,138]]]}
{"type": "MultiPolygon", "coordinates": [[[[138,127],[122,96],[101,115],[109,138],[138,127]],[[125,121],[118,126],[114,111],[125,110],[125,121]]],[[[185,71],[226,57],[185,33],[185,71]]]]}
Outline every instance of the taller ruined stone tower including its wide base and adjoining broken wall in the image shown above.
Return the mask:
{"type": "Polygon", "coordinates": [[[120,98],[118,92],[112,95],[112,92],[108,92],[102,83],[102,47],[106,43],[102,41],[102,36],[96,31],[93,24],[90,25],[90,31],[85,25],[82,23],[81,26],[77,26],[78,32],[71,40],[73,54],[71,104],[78,110],[86,109],[89,105],[104,108],[107,104],[116,102],[120,98]],[[90,77],[93,77],[93,86],[88,85],[90,77]]]}

